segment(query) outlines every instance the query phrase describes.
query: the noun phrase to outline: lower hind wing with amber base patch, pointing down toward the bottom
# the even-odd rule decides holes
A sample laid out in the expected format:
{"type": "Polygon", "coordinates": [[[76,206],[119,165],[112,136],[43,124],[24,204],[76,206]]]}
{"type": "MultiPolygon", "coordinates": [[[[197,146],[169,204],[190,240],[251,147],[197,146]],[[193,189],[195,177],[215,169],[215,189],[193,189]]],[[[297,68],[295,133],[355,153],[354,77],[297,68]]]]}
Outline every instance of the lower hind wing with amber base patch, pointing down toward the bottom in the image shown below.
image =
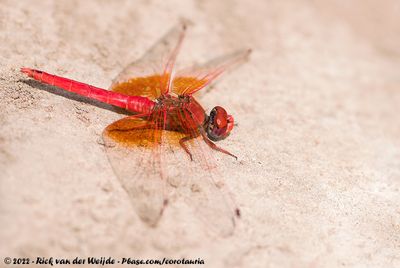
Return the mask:
{"type": "Polygon", "coordinates": [[[155,226],[167,200],[165,180],[160,178],[162,131],[152,116],[130,116],[109,125],[103,132],[108,159],[132,201],[138,216],[155,226]]]}

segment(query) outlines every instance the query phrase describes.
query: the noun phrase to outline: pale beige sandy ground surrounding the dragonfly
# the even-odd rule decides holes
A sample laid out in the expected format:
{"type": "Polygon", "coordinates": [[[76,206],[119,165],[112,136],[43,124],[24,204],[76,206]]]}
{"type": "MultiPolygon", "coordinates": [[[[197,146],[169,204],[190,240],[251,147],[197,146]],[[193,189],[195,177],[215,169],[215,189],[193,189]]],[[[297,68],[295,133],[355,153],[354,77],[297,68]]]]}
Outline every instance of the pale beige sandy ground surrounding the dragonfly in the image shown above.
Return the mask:
{"type": "Polygon", "coordinates": [[[399,267],[399,25],[395,0],[0,1],[0,266],[112,256],[399,267]],[[18,71],[107,88],[182,17],[194,22],[183,61],[254,49],[201,99],[238,122],[220,143],[239,156],[221,163],[242,211],[229,237],[179,196],[157,228],[143,224],[101,142],[122,115],[18,71]]]}

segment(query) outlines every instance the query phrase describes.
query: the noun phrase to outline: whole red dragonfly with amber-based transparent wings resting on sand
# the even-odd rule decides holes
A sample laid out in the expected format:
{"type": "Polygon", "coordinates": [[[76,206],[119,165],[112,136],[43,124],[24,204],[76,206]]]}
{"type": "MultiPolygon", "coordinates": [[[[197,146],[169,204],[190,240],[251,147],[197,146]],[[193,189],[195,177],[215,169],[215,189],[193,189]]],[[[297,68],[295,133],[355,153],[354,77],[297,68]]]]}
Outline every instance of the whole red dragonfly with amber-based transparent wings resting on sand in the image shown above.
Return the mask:
{"type": "Polygon", "coordinates": [[[156,225],[167,204],[166,188],[184,184],[190,189],[189,203],[202,218],[212,219],[217,231],[229,234],[240,212],[229,191],[222,189],[226,187],[216,182],[220,176],[214,171],[217,161],[211,151],[237,158],[214,143],[230,134],[234,119],[220,106],[207,115],[193,94],[246,61],[250,50],[175,72],[185,31],[185,24],[170,30],[129,64],[110,90],[35,69],[21,68],[21,72],[133,113],[109,125],[103,139],[110,163],[142,220],[156,225]],[[185,158],[189,161],[182,162],[185,158]]]}

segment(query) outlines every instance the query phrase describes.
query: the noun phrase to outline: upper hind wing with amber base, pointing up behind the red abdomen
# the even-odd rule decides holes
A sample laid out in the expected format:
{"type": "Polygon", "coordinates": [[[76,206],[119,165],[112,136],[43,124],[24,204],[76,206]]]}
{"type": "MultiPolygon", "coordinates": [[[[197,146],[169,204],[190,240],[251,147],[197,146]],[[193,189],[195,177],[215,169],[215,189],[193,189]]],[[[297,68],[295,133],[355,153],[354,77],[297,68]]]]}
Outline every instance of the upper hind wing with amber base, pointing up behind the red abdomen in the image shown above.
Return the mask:
{"type": "Polygon", "coordinates": [[[110,90],[150,99],[169,92],[185,31],[184,22],[172,28],[142,58],[125,67],[113,80],[110,90]]]}

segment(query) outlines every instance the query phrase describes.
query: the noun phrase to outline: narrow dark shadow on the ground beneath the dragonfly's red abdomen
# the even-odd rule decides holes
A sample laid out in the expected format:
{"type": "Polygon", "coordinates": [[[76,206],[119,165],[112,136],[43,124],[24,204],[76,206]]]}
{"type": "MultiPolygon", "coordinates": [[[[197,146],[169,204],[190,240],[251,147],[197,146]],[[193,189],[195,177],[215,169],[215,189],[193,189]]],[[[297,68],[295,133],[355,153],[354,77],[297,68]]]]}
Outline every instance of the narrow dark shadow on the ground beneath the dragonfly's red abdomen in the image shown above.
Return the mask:
{"type": "Polygon", "coordinates": [[[87,104],[96,106],[96,107],[101,108],[101,109],[105,109],[105,110],[109,110],[109,111],[112,111],[112,112],[116,112],[118,114],[131,115],[130,112],[128,112],[128,111],[126,111],[126,110],[124,110],[122,108],[114,107],[112,105],[109,105],[109,104],[106,104],[106,103],[103,103],[103,102],[100,102],[100,101],[97,101],[97,100],[88,99],[86,97],[79,96],[79,95],[77,95],[75,93],[60,89],[60,88],[55,87],[55,86],[46,85],[46,84],[43,84],[43,83],[35,81],[35,80],[20,80],[20,82],[25,83],[30,87],[38,88],[40,90],[44,90],[44,91],[47,91],[49,93],[62,96],[64,98],[67,98],[67,99],[70,99],[70,100],[87,103],[87,104]]]}

